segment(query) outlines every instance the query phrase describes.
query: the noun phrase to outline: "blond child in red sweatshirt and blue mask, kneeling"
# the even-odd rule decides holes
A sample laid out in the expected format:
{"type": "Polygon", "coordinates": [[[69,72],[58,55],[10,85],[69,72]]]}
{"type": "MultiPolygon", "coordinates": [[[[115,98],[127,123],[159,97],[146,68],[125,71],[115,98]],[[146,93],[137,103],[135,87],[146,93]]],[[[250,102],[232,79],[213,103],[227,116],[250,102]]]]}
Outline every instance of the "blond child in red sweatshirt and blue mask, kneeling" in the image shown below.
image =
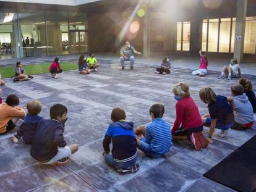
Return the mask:
{"type": "Polygon", "coordinates": [[[190,140],[195,150],[207,148],[208,141],[203,136],[203,122],[194,100],[190,97],[189,86],[179,83],[173,88],[176,103],[176,120],[171,130],[174,141],[190,140]]]}

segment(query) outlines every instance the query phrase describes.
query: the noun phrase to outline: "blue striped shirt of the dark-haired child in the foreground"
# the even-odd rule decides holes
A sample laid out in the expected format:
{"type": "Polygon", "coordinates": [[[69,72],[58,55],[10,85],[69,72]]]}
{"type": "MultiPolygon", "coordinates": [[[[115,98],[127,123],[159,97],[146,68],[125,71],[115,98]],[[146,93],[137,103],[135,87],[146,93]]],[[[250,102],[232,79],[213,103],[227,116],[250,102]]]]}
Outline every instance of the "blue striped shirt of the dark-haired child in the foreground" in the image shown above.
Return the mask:
{"type": "Polygon", "coordinates": [[[161,118],[156,118],[146,128],[145,142],[158,154],[166,154],[172,146],[171,127],[161,118]]]}

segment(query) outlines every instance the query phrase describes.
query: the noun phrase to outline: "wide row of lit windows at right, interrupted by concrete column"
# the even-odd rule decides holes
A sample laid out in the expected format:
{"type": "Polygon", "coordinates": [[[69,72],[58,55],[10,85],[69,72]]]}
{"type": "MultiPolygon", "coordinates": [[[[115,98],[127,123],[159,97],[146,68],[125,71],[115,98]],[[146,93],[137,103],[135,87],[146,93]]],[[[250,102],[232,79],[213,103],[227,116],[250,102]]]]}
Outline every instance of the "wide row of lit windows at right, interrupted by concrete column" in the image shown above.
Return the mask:
{"type": "MultiPolygon", "coordinates": [[[[202,51],[234,52],[236,18],[203,20],[202,51]]],[[[244,53],[256,53],[256,17],[246,17],[244,53]]]]}

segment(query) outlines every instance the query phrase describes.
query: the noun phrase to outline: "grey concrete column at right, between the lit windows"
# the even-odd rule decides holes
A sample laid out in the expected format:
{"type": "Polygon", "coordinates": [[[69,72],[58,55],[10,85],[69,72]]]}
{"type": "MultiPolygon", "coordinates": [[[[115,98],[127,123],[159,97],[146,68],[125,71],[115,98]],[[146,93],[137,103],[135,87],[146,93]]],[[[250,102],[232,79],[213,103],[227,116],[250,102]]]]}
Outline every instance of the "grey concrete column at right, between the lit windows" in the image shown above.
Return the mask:
{"type": "Polygon", "coordinates": [[[237,0],[236,4],[236,35],[234,42],[234,58],[240,64],[244,56],[244,31],[247,11],[247,0],[237,0]]]}

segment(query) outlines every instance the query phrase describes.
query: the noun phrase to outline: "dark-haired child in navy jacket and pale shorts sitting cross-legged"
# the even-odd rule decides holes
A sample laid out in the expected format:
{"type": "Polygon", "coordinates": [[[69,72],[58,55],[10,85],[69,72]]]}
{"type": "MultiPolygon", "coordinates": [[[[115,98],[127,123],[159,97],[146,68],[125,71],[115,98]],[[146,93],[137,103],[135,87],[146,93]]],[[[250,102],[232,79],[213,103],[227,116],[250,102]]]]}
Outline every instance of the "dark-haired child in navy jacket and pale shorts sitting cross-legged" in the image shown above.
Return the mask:
{"type": "Polygon", "coordinates": [[[67,107],[55,104],[50,109],[49,119],[37,123],[30,155],[41,164],[64,165],[69,156],[79,149],[78,144],[67,146],[64,140],[64,123],[67,120],[67,107]]]}

